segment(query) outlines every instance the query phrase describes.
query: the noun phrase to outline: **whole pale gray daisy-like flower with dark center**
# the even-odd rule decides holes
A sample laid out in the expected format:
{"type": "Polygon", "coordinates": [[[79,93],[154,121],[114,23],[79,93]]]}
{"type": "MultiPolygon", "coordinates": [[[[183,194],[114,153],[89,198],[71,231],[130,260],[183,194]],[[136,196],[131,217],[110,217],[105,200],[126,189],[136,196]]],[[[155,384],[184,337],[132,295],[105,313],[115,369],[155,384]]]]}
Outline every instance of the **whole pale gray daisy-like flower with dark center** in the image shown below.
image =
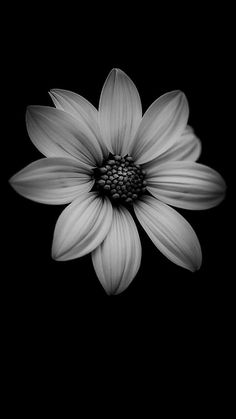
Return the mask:
{"type": "Polygon", "coordinates": [[[92,254],[108,294],[124,291],[138,272],[141,243],[129,209],[156,247],[190,271],[200,268],[201,247],[190,224],[171,206],[202,210],[224,198],[225,182],[196,163],[201,143],[187,125],[181,91],[159,97],[142,116],[130,78],[113,69],[99,110],[65,90],[50,91],[55,108],[30,106],[29,136],[46,156],[10,179],[26,198],[69,204],[55,227],[52,257],[92,254]]]}

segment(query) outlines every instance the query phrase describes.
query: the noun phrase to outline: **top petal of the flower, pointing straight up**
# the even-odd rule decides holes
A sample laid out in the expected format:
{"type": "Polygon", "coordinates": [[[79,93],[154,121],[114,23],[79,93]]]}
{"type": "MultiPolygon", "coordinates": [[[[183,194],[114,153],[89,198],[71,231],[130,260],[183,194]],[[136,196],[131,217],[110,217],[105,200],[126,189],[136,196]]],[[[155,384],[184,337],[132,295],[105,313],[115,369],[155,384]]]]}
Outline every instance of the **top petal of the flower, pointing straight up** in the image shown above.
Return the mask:
{"type": "Polygon", "coordinates": [[[141,101],[134,83],[123,71],[113,69],[103,86],[99,102],[101,133],[112,153],[128,153],[141,118],[141,101]]]}

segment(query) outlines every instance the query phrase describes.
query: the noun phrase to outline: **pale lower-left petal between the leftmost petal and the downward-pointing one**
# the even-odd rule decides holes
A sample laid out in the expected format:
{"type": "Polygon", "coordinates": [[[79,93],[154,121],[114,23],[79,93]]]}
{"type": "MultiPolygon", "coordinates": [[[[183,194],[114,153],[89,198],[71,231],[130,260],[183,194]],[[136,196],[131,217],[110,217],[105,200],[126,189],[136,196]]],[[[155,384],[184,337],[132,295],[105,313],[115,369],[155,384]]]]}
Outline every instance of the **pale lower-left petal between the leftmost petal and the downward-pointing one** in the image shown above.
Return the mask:
{"type": "Polygon", "coordinates": [[[95,192],[80,195],[57,220],[52,257],[76,259],[92,252],[105,239],[112,222],[110,200],[95,192]]]}

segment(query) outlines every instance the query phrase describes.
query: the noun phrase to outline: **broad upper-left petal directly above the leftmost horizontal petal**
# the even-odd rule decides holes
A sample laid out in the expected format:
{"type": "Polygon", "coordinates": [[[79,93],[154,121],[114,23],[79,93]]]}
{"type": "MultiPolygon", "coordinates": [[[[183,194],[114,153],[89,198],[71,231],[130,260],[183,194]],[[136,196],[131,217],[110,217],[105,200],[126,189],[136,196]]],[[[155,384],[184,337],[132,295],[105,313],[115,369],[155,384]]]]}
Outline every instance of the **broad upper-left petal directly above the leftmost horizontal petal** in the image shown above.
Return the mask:
{"type": "Polygon", "coordinates": [[[29,136],[46,157],[73,157],[95,166],[101,147],[92,131],[73,115],[49,106],[30,106],[26,113],[29,136]]]}

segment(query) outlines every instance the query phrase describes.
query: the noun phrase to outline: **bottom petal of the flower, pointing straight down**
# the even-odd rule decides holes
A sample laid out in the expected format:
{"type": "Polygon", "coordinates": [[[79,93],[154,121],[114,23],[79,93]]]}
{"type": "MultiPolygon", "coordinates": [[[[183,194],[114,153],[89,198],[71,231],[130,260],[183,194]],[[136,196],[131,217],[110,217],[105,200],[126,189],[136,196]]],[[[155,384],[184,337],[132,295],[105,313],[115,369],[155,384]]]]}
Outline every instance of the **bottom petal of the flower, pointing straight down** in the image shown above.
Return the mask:
{"type": "Polygon", "coordinates": [[[126,208],[114,208],[111,228],[92,253],[93,266],[107,294],[120,294],[137,274],[142,248],[137,227],[126,208]]]}

